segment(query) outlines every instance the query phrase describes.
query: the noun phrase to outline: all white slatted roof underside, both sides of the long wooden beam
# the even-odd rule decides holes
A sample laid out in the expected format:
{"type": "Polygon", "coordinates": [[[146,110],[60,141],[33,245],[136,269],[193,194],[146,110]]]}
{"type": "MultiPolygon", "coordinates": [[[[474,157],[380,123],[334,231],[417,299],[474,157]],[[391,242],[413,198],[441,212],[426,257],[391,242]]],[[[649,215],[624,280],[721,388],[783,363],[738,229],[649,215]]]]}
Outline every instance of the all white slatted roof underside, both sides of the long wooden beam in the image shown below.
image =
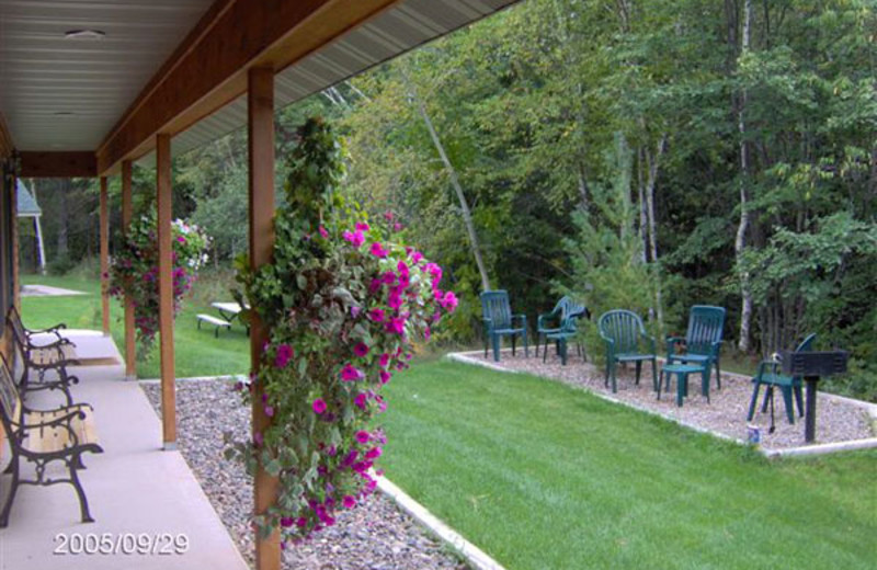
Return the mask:
{"type": "MultiPolygon", "coordinates": [[[[356,2],[357,0],[351,0],[356,2]]],[[[517,0],[402,0],[276,76],[294,103],[517,0]]],[[[0,112],[19,150],[96,150],[212,0],[0,0],[0,112]],[[65,32],[98,29],[98,41],[65,32]]],[[[236,95],[239,91],[236,93],[236,95]]],[[[244,96],[185,130],[174,155],[246,125],[244,96]]],[[[140,147],[143,148],[143,147],[140,147]]],[[[151,145],[135,151],[137,158],[151,145]]],[[[151,153],[147,157],[151,159],[151,153]]],[[[100,161],[99,161],[100,162],[100,161]]],[[[106,164],[99,164],[99,171],[106,164]]]]}

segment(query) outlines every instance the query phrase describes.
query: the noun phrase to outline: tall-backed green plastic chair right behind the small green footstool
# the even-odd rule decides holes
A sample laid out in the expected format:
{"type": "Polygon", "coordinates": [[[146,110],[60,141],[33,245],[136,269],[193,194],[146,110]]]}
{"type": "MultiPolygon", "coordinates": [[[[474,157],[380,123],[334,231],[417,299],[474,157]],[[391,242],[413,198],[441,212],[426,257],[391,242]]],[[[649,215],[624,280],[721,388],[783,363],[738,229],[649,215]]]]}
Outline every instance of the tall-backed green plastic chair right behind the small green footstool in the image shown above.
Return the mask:
{"type": "Polygon", "coordinates": [[[713,366],[716,366],[716,387],[721,389],[719,350],[725,330],[725,308],[709,305],[695,305],[688,314],[688,330],[685,337],[667,338],[667,363],[703,365],[707,381],[713,366]],[[676,354],[676,345],[683,344],[685,352],[676,354]]]}

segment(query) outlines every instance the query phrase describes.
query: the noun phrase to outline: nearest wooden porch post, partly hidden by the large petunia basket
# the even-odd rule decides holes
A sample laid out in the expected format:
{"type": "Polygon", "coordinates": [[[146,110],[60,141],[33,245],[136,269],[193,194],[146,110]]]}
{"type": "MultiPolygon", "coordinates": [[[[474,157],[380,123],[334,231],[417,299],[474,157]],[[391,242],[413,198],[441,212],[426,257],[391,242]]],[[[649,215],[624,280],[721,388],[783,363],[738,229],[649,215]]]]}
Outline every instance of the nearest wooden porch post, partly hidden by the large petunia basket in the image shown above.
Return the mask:
{"type": "MultiPolygon", "coordinates": [[[[247,111],[250,168],[250,264],[253,269],[271,262],[274,248],[274,71],[250,69],[248,72],[247,111]]],[[[250,357],[255,372],[262,358],[262,346],[269,331],[254,319],[250,332],[250,357]]],[[[262,406],[262,385],[255,380],[253,395],[253,435],[271,422],[262,406]]],[[[260,465],[255,472],[255,514],[274,504],[280,481],[260,465]]],[[[257,570],[280,570],[280,531],[267,538],[255,536],[257,570]]]]}

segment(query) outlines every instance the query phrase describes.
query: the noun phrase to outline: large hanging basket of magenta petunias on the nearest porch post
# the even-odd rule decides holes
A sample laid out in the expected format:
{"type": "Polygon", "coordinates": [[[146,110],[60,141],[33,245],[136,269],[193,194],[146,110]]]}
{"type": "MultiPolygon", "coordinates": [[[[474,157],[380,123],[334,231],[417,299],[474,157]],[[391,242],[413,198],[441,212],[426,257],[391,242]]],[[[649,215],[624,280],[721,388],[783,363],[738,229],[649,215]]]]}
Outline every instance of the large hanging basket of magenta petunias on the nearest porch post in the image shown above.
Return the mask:
{"type": "Polygon", "coordinates": [[[271,331],[239,389],[249,403],[260,395],[271,423],[227,451],[251,474],[261,463],[280,478],[276,503],[255,524],[293,540],[332,526],[375,489],[386,443],[375,425],[387,407],[380,388],[457,305],[442,290],[441,267],[400,243],[391,219],[369,224],[339,195],[342,148],[329,127],[311,119],[299,137],[273,262],[238,265],[252,307],[244,318],[258,315],[271,331]]]}

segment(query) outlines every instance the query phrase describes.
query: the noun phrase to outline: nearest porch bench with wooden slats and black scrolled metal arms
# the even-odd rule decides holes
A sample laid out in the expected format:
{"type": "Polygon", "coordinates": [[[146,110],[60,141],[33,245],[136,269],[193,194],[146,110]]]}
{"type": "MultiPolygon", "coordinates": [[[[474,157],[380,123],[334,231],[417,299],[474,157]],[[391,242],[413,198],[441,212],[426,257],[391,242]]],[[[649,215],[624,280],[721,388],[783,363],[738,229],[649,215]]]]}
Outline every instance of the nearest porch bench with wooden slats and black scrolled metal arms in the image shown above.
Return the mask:
{"type": "Polygon", "coordinates": [[[76,403],[54,410],[33,410],[26,407],[19,396],[5,358],[0,355],[0,421],[12,454],[7,468],[7,472],[12,474],[12,482],[3,510],[0,512],[0,528],[9,523],[12,502],[21,485],[72,485],[79,498],[82,522],[94,522],[77,474],[79,469],[84,469],[83,453],[103,452],[98,445],[91,406],[76,403]],[[35,479],[22,479],[20,474],[22,459],[34,464],[35,479]],[[58,478],[47,475],[46,467],[53,461],[62,463],[67,467],[69,477],[58,478]]]}

